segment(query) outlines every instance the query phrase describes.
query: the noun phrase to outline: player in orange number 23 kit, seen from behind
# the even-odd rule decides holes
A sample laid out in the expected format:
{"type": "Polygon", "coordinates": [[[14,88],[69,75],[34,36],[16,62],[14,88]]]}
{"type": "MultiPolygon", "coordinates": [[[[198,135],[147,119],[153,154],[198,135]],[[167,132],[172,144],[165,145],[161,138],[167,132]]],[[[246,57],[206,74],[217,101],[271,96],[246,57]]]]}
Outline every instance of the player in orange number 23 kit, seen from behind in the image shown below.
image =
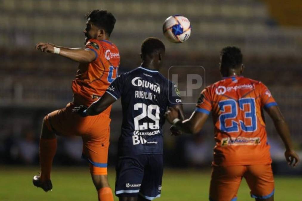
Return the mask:
{"type": "Polygon", "coordinates": [[[191,117],[179,120],[175,108],[166,113],[167,120],[177,129],[197,133],[212,112],[216,141],[209,196],[212,201],[237,200],[242,177],[256,201],[274,200],[274,177],[263,109],[272,118],[284,142],[288,164],[296,166],[299,162],[288,125],[270,91],[260,81],[240,76],[243,69],[240,49],[223,48],[220,57],[223,80],[201,92],[191,117]]]}

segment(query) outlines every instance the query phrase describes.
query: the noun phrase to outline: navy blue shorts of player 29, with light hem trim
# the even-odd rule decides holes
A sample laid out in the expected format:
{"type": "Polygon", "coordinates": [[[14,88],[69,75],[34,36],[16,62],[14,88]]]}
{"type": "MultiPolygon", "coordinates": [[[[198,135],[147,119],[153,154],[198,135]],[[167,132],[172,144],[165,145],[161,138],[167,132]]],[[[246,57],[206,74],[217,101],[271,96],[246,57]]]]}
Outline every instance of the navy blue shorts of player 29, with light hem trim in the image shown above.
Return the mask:
{"type": "Polygon", "coordinates": [[[153,200],[162,190],[162,155],[119,157],[116,165],[115,195],[153,200]]]}

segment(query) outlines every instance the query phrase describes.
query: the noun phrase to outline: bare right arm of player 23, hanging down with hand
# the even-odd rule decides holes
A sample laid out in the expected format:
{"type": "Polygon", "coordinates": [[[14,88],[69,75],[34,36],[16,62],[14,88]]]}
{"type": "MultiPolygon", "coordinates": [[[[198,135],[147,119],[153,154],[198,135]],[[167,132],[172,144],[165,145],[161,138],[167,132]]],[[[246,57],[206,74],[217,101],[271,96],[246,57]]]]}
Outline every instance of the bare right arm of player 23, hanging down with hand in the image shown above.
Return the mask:
{"type": "Polygon", "coordinates": [[[276,105],[271,106],[271,107],[265,108],[265,111],[268,113],[268,115],[273,120],[273,122],[275,124],[275,128],[277,129],[277,132],[285,145],[286,151],[285,151],[284,155],[285,155],[286,161],[288,162],[289,165],[293,165],[295,167],[297,165],[297,163],[299,162],[299,156],[294,151],[294,147],[292,145],[291,135],[290,135],[288,125],[285,122],[284,117],[283,117],[281,111],[279,110],[279,107],[276,105]],[[295,160],[295,162],[294,162],[294,160],[295,160]]]}

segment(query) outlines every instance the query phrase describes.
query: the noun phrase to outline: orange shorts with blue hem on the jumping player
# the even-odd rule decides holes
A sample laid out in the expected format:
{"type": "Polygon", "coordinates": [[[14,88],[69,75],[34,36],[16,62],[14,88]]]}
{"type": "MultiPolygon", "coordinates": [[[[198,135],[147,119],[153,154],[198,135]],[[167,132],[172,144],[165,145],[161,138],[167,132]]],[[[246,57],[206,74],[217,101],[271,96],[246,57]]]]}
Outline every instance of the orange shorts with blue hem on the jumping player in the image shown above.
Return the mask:
{"type": "Polygon", "coordinates": [[[72,113],[72,103],[44,118],[48,129],[60,136],[82,136],[83,154],[90,163],[91,174],[107,174],[110,121],[108,114],[82,117],[72,113]]]}

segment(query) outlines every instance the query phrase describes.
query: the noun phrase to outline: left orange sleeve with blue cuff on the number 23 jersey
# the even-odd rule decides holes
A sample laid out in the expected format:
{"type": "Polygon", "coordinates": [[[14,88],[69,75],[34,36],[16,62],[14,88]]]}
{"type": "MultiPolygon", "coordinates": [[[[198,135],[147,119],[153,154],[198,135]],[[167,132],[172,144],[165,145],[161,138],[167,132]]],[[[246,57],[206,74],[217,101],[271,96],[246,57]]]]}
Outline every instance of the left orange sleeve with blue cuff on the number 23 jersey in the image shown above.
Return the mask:
{"type": "Polygon", "coordinates": [[[210,97],[211,96],[210,96],[208,87],[205,88],[203,91],[201,91],[197,104],[196,104],[195,112],[202,112],[202,113],[206,113],[207,115],[209,115],[212,110],[212,104],[211,104],[210,97]]]}

